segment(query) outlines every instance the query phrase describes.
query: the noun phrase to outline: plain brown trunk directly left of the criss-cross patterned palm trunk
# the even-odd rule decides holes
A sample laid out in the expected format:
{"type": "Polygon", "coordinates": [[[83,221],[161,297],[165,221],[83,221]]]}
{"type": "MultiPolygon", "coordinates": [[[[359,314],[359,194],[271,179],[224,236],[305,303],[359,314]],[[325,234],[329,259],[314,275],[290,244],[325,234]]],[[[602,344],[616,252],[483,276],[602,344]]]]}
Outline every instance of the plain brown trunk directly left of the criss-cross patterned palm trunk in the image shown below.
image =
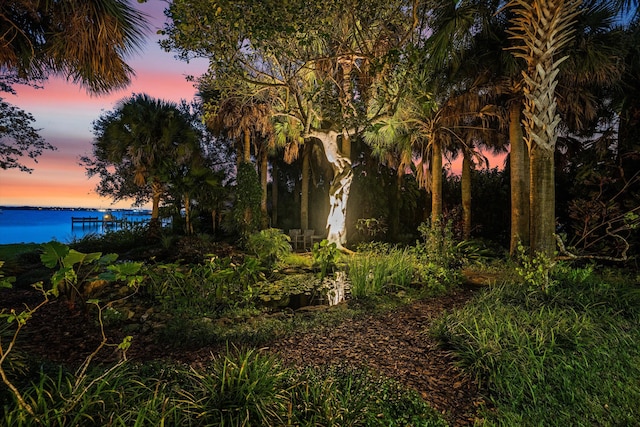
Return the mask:
{"type": "Polygon", "coordinates": [[[521,104],[514,102],[509,106],[511,255],[516,253],[518,243],[529,246],[529,153],[522,135],[521,111],[521,104]]]}

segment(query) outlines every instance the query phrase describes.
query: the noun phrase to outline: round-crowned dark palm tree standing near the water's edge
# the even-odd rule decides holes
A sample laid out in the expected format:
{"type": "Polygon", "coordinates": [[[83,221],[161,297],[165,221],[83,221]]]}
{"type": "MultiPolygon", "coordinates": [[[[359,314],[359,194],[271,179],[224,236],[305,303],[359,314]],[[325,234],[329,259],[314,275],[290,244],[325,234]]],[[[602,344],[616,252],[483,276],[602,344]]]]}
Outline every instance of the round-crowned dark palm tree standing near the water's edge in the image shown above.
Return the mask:
{"type": "Polygon", "coordinates": [[[94,165],[129,165],[132,182],[151,189],[151,219],[157,225],[172,173],[188,164],[199,147],[190,117],[174,103],[138,94],[97,120],[94,134],[94,165]]]}

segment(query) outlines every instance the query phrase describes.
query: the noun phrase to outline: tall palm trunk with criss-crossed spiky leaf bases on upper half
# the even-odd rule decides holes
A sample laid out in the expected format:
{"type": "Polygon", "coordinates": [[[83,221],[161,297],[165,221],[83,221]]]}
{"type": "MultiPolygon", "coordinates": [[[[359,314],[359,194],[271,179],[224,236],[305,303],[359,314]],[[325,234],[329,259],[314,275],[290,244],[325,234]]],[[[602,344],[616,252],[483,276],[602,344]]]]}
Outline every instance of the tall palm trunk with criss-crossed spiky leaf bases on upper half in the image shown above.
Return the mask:
{"type": "Polygon", "coordinates": [[[510,33],[520,45],[514,55],[527,62],[524,80],[524,140],[530,157],[530,246],[532,253],[555,252],[554,152],[557,55],[570,40],[579,0],[512,0],[515,13],[510,33]]]}

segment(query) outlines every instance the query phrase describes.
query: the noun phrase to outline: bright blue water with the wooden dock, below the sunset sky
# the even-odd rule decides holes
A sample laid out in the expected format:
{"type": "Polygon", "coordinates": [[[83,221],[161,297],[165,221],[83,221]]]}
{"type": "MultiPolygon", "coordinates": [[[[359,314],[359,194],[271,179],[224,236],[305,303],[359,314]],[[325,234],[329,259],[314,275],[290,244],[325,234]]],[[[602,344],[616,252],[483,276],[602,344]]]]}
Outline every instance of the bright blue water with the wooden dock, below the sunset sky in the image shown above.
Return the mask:
{"type": "MultiPolygon", "coordinates": [[[[147,211],[113,210],[110,212],[115,219],[127,218],[131,221],[145,221],[149,219],[147,211]]],[[[105,228],[102,224],[74,224],[71,217],[98,217],[102,219],[107,212],[91,209],[12,209],[2,208],[0,212],[0,244],[7,243],[46,243],[57,240],[70,243],[74,239],[87,234],[102,234],[105,228]]],[[[113,228],[111,228],[113,229],[113,228]]]]}

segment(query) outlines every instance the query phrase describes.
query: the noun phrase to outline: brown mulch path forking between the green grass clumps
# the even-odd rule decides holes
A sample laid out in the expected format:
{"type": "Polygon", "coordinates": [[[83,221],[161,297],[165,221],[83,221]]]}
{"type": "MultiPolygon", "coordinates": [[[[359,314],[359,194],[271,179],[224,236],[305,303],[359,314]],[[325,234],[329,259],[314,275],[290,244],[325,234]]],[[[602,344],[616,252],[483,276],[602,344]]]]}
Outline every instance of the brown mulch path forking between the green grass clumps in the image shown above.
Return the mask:
{"type": "Polygon", "coordinates": [[[475,383],[425,332],[445,310],[463,305],[470,291],[415,302],[382,316],[366,316],[275,342],[270,349],[301,366],[367,366],[418,391],[457,426],[472,425],[483,403],[475,383]]]}

